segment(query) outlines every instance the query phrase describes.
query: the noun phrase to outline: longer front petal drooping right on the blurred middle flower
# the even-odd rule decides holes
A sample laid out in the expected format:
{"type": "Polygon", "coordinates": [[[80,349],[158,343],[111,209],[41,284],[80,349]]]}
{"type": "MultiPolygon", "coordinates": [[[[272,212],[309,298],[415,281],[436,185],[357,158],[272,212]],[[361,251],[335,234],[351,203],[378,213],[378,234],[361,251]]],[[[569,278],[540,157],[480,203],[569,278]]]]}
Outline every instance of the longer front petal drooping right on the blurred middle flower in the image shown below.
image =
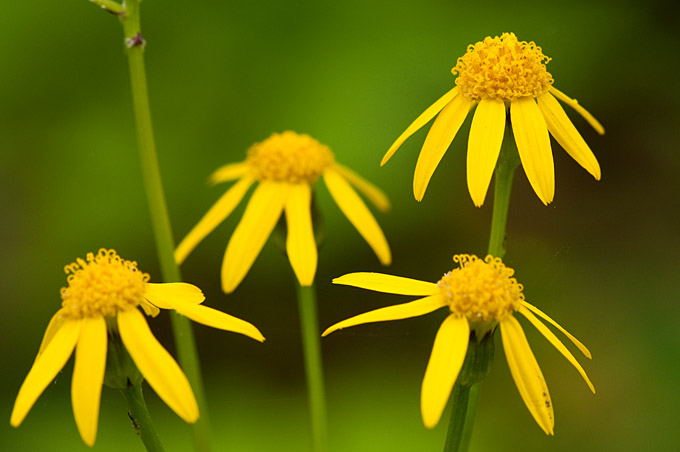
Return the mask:
{"type": "Polygon", "coordinates": [[[327,168],[323,173],[323,179],[342,213],[368,242],[380,262],[383,265],[389,265],[392,262],[390,246],[366,204],[335,169],[327,168]]]}

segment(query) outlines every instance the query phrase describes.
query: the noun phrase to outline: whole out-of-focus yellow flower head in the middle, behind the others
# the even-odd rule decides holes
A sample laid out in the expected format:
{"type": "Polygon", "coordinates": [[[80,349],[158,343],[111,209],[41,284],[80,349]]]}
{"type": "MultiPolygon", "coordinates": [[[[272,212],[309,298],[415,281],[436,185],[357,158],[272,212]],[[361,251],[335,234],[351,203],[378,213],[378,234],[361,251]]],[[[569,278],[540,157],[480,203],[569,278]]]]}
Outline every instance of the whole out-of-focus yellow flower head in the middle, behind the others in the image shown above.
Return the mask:
{"type": "Polygon", "coordinates": [[[227,245],[222,262],[222,289],[229,293],[240,284],[283,212],[288,229],[288,259],[300,285],[311,285],[316,274],[317,249],[310,206],[312,185],[319,176],[323,176],[338,207],[373,248],[380,262],[389,265],[392,257],[385,235],[350,184],[382,211],[389,209],[385,195],[349,168],[335,162],[327,146],[308,135],[290,131],[275,133],[254,144],[244,162],[225,165],[213,173],[213,184],[237,179],[238,182],[177,246],[175,260],[178,264],[184,262],[257,181],[259,184],[227,245]]]}

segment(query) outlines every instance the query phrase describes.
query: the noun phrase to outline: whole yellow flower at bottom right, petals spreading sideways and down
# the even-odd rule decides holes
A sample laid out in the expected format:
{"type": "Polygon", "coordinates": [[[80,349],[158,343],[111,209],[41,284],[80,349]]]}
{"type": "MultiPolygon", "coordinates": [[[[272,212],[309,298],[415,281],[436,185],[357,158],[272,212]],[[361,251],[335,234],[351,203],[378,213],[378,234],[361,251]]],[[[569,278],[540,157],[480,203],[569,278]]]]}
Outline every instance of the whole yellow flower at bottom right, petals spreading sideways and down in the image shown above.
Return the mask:
{"type": "Polygon", "coordinates": [[[423,422],[432,428],[439,422],[463,366],[471,332],[479,340],[500,325],[505,356],[517,389],[538,425],[552,435],[554,417],[548,387],[513,313],[519,312],[529,320],[578,370],[594,393],[593,384],[576,358],[536,316],[564,333],[588,358],[590,352],[554,320],[524,300],[522,285],[512,277],[514,271],[499,258],[487,256],[481,260],[463,254],[455,255],[453,260],[460,268],[446,273],[436,284],[381,273],[350,273],[334,279],[335,284],[425,298],[343,320],[324,331],[323,336],[349,326],[416,317],[448,307],[450,314],[437,332],[421,391],[423,422]]]}

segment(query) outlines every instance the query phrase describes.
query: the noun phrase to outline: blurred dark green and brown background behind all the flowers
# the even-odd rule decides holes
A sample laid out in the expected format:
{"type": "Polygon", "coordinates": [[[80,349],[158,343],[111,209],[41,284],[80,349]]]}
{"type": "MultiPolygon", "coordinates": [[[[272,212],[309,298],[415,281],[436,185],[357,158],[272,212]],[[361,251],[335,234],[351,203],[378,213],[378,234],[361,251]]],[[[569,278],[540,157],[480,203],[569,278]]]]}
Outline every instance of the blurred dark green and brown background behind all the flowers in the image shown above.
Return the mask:
{"type": "MultiPolygon", "coordinates": [[[[407,301],[333,287],[351,271],[436,281],[451,255],[486,250],[490,198],[477,209],[465,185],[467,123],[424,201],[411,178],[425,132],[384,168],[391,142],[452,86],[466,46],[514,31],[553,58],[556,86],[606,127],[570,116],[602,166],[594,181],[554,144],[555,202],[544,207],[517,173],[506,261],[527,299],[583,340],[594,359],[578,374],[528,323],[552,390],[555,436],[524,407],[498,348],[482,388],[472,451],[668,451],[680,447],[680,89],[672,2],[154,1],[142,5],[160,165],[176,239],[224,191],[219,165],[293,129],[384,188],[377,215],[394,264],[383,269],[333,204],[318,196],[327,242],[317,274],[322,327],[407,301]]],[[[72,364],[18,429],[17,390],[50,316],[63,266],[100,247],[135,259],[159,280],[142,190],[122,32],[85,0],[5,2],[0,14],[0,449],[79,451],[70,406],[72,364]],[[4,414],[3,414],[4,413],[4,414]]],[[[268,244],[232,295],[219,266],[243,206],[187,259],[184,278],[206,303],[252,321],[267,337],[196,326],[215,450],[310,450],[300,328],[289,264],[268,244]]],[[[332,451],[441,450],[446,421],[420,420],[419,393],[443,313],[367,325],[323,340],[332,451]]],[[[167,313],[151,322],[173,350],[167,313]]],[[[587,361],[587,360],[586,360],[587,361]]],[[[168,450],[189,429],[150,389],[168,450]]],[[[143,450],[122,397],[105,388],[93,450],[143,450]]],[[[447,416],[445,415],[445,418],[447,416]]]]}

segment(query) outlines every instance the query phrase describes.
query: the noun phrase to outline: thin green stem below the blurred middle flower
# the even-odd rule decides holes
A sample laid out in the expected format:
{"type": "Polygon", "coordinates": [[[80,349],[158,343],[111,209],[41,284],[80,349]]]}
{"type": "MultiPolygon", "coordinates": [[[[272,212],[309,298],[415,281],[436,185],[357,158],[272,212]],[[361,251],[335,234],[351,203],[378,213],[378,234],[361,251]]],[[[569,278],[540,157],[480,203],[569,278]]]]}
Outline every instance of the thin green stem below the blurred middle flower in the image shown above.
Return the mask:
{"type": "Polygon", "coordinates": [[[305,372],[307,374],[307,395],[312,422],[312,440],[315,452],[325,452],[328,449],[326,396],[321,363],[321,341],[319,340],[321,333],[316,313],[316,289],[314,286],[302,287],[298,285],[297,294],[302,326],[302,346],[305,355],[305,372]]]}

